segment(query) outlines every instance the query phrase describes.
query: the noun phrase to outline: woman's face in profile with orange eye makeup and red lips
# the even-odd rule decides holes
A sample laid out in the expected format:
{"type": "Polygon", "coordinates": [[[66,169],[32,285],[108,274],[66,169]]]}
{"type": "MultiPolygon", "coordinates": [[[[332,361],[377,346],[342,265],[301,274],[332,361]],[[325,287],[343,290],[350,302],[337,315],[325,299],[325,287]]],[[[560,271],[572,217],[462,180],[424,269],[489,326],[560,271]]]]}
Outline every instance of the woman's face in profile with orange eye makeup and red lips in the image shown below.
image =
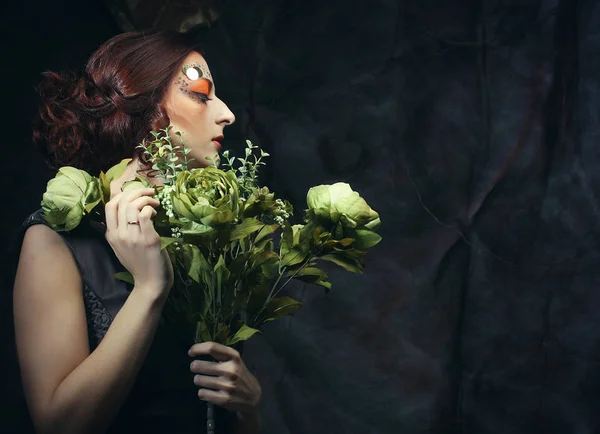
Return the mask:
{"type": "Polygon", "coordinates": [[[172,138],[182,134],[190,167],[212,165],[206,157],[215,157],[221,149],[223,129],[235,121],[229,107],[217,98],[215,84],[204,58],[192,52],[171,81],[163,106],[171,120],[172,138]]]}

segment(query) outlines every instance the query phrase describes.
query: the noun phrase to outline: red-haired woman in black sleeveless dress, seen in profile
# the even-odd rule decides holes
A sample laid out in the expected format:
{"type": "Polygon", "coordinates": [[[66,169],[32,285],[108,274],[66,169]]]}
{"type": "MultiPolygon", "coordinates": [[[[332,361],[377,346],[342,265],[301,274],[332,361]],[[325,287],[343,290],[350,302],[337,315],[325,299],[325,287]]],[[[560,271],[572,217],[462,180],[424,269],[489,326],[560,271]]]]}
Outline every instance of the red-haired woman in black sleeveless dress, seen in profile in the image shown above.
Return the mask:
{"type": "Polygon", "coordinates": [[[44,75],[34,139],[51,165],[97,174],[133,159],[111,185],[102,230],[59,234],[39,212],[24,224],[14,321],[36,430],[200,433],[211,402],[217,432],[258,432],[261,389],[239,353],[189,348],[161,317],[173,271],[152,224],[153,190],[121,192],[136,175],[157,182],[136,149],[152,130],[181,132],[198,166],[218,152],[235,118],[206,61],[184,35],[125,33],[82,77],[44,75]],[[124,269],[135,287],[113,277],[124,269]]]}

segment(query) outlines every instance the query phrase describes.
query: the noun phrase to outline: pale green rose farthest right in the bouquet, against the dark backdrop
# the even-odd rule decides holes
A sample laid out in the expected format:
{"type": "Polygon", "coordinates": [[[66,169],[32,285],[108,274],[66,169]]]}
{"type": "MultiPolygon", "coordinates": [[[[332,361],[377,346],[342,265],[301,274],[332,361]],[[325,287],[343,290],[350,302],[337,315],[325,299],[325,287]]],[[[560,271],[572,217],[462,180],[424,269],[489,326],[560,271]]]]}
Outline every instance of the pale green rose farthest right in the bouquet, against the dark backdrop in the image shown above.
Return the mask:
{"type": "Polygon", "coordinates": [[[375,233],[381,225],[379,214],[349,184],[313,187],[306,202],[309,218],[314,216],[317,224],[331,226],[336,239],[353,238],[358,248],[372,247],[381,241],[375,233]]]}

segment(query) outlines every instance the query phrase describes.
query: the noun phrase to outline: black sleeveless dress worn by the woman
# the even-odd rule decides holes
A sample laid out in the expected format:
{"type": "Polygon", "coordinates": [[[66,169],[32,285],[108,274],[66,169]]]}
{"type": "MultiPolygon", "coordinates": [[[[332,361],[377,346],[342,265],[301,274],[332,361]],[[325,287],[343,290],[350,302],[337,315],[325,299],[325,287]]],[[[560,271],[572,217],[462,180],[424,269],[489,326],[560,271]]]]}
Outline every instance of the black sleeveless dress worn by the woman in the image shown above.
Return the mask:
{"type": "MultiPolygon", "coordinates": [[[[46,224],[41,210],[22,225],[21,234],[36,224],[46,224]]],[[[90,351],[93,351],[110,327],[113,318],[127,300],[131,285],[114,274],[124,271],[103,231],[82,222],[74,231],[59,232],[73,254],[82,278],[83,299],[88,326],[90,351]]],[[[148,355],[108,433],[206,432],[206,403],[197,395],[187,354],[193,341],[161,317],[148,355]]],[[[90,393],[93,393],[91,391],[90,393]]],[[[233,433],[235,413],[215,406],[217,434],[233,433]]]]}

